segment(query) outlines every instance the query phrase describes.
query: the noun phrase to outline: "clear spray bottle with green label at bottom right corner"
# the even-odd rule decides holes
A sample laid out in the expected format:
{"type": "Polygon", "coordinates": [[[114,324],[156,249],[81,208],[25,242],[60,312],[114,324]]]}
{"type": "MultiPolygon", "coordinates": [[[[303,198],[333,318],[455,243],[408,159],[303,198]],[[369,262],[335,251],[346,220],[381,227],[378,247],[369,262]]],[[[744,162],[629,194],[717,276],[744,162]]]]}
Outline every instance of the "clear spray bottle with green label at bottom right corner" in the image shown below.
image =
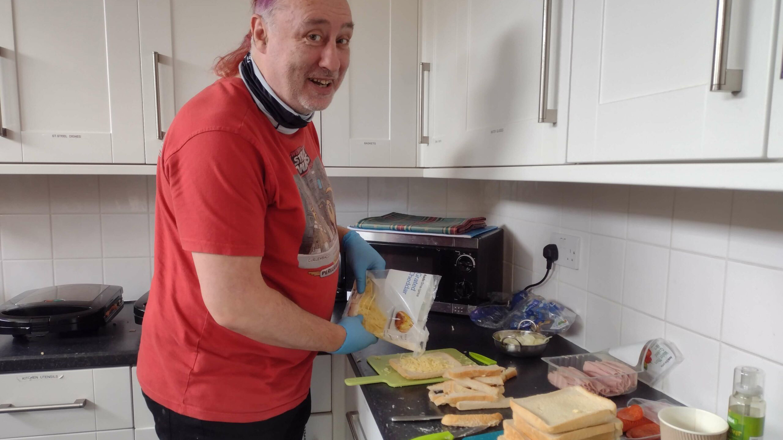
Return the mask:
{"type": "Polygon", "coordinates": [[[763,440],[764,372],[754,366],[734,369],[734,391],[729,398],[728,440],[763,440]]]}

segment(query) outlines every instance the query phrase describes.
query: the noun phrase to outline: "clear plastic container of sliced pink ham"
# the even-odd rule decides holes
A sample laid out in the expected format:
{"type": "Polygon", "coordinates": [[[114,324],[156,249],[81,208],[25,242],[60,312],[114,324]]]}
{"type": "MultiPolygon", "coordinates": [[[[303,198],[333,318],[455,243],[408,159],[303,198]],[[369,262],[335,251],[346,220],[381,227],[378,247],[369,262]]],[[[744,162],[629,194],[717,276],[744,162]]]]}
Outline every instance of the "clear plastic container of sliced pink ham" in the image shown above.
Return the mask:
{"type": "Polygon", "coordinates": [[[547,379],[557,388],[568,388],[580,385],[587,391],[604,397],[624,395],[636,391],[638,373],[644,369],[637,369],[606,352],[584,353],[582,355],[566,355],[552,358],[541,358],[549,364],[547,379]],[[600,368],[603,362],[611,362],[608,365],[612,370],[623,370],[622,373],[601,374],[600,368]],[[585,367],[587,372],[585,372],[585,367]],[[592,366],[592,368],[590,367],[592,366]]]}

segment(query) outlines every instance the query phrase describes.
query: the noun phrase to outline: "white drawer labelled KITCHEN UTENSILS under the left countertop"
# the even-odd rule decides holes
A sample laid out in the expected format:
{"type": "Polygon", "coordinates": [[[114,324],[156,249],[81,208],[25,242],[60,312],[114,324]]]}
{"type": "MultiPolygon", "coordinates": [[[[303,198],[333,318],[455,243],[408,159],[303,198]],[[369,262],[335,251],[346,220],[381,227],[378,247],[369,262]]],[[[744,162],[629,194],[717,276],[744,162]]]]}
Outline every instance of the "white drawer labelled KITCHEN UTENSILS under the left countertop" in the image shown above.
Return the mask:
{"type": "MultiPolygon", "coordinates": [[[[130,367],[0,374],[0,405],[83,408],[0,414],[0,438],[133,427],[130,367]]],[[[95,438],[95,437],[92,437],[95,438]]]]}

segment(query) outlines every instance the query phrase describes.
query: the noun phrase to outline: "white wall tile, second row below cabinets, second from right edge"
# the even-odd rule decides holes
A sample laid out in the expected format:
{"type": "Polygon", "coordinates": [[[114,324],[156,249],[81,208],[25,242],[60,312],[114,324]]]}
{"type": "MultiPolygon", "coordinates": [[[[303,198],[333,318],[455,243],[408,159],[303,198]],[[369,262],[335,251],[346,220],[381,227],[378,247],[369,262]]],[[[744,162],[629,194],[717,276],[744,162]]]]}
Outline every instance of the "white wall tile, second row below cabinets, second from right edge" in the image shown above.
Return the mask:
{"type": "Polygon", "coordinates": [[[681,251],[670,261],[666,320],[718,339],[726,261],[681,251]]]}

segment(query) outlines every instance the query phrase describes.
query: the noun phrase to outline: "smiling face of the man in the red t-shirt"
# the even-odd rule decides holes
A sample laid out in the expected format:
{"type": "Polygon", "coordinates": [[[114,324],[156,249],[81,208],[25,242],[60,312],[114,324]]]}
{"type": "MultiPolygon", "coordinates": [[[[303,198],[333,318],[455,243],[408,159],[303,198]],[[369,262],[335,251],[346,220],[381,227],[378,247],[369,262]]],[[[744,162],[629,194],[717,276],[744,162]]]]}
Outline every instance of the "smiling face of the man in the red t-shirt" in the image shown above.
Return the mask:
{"type": "Polygon", "coordinates": [[[284,103],[324,110],[348,70],[353,34],[346,0],[275,0],[269,20],[254,15],[253,58],[284,103]]]}

